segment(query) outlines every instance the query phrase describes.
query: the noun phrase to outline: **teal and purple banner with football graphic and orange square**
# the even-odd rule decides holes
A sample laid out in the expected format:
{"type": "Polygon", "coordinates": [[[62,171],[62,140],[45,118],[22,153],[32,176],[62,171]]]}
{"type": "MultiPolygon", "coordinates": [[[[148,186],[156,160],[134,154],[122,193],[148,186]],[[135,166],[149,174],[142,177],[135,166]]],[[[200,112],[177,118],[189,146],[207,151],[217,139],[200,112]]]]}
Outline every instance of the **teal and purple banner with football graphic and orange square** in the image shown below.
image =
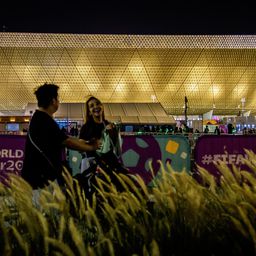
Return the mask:
{"type": "MultiPolygon", "coordinates": [[[[69,164],[73,174],[80,172],[81,154],[69,150],[69,164]]],[[[158,160],[169,163],[174,171],[190,171],[190,146],[181,135],[131,135],[122,137],[121,160],[134,174],[139,174],[146,184],[152,182],[149,162],[154,174],[160,170],[158,160]]]]}

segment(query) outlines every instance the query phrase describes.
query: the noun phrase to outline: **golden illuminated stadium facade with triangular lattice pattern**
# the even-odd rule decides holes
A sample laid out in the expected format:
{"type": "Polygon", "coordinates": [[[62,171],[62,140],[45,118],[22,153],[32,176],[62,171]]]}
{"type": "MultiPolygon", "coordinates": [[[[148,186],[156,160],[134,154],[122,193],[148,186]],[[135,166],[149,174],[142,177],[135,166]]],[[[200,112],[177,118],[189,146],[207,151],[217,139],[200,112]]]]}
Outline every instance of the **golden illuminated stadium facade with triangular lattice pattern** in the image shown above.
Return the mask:
{"type": "Polygon", "coordinates": [[[63,103],[159,102],[168,114],[256,113],[256,35],[0,33],[0,112],[60,86],[63,103]]]}

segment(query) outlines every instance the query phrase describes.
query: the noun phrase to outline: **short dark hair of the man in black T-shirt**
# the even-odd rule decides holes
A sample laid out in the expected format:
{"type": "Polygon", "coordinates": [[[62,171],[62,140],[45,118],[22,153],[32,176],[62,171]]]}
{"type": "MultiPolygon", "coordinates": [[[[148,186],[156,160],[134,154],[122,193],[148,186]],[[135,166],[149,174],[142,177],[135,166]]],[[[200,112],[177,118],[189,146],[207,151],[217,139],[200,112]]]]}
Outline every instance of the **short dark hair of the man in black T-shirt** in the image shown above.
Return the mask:
{"type": "Polygon", "coordinates": [[[34,94],[36,95],[38,107],[47,108],[51,104],[53,99],[58,98],[59,86],[55,84],[45,83],[39,86],[34,94]]]}

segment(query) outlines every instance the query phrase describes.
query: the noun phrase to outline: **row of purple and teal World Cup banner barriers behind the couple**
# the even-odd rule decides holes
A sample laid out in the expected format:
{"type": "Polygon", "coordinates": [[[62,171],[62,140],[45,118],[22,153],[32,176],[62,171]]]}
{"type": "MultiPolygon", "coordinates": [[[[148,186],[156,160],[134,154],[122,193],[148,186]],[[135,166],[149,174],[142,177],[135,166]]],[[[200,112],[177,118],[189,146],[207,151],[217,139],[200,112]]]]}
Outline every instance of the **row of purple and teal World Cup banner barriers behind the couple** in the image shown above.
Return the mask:
{"type": "MultiPolygon", "coordinates": [[[[0,178],[8,173],[18,173],[22,169],[26,136],[0,135],[0,178]]],[[[160,170],[158,160],[167,162],[174,171],[191,171],[191,159],[216,177],[219,172],[217,160],[228,166],[235,165],[248,170],[244,164],[247,158],[244,149],[256,151],[256,135],[203,135],[197,138],[195,146],[182,135],[127,135],[122,136],[121,160],[133,173],[139,174],[146,184],[152,182],[149,162],[156,178],[160,170]],[[192,152],[192,154],[191,154],[192,152]]],[[[68,160],[73,174],[80,172],[81,154],[68,150],[68,160]]],[[[36,170],[35,170],[36,171],[36,170]]]]}

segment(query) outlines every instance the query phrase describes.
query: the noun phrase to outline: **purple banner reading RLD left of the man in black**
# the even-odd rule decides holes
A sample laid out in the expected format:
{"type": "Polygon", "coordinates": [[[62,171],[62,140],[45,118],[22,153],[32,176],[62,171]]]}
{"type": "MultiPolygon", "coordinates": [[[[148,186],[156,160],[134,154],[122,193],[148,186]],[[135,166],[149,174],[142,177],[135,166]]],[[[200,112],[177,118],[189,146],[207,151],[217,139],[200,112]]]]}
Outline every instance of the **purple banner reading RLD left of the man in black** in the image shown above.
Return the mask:
{"type": "Polygon", "coordinates": [[[8,173],[19,174],[24,159],[26,136],[0,135],[0,180],[8,173]]]}

